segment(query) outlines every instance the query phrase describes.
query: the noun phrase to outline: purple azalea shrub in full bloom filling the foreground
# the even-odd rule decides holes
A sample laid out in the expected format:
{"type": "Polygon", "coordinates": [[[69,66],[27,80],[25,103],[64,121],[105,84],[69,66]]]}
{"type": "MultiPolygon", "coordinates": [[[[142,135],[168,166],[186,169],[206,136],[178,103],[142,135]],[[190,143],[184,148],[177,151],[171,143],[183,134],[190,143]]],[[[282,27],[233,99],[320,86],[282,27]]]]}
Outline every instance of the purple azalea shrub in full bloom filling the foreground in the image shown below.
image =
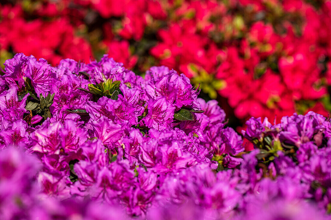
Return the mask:
{"type": "Polygon", "coordinates": [[[251,118],[241,136],[165,66],[144,78],[108,55],[4,66],[1,219],[331,219],[322,115],[251,118]]]}

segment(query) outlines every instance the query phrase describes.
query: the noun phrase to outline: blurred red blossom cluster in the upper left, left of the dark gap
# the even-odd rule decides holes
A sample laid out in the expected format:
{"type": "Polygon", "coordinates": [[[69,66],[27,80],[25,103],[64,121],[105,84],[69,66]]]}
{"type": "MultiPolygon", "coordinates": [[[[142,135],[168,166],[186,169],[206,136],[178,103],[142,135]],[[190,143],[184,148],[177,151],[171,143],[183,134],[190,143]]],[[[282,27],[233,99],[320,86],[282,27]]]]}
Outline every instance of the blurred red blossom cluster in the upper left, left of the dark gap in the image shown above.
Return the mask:
{"type": "Polygon", "coordinates": [[[28,15],[23,6],[23,3],[0,5],[2,53],[21,51],[38,58],[45,57],[51,63],[59,63],[64,57],[90,60],[92,51],[88,41],[74,34],[80,21],[72,23],[69,19],[71,11],[59,12],[49,3],[28,15]]]}

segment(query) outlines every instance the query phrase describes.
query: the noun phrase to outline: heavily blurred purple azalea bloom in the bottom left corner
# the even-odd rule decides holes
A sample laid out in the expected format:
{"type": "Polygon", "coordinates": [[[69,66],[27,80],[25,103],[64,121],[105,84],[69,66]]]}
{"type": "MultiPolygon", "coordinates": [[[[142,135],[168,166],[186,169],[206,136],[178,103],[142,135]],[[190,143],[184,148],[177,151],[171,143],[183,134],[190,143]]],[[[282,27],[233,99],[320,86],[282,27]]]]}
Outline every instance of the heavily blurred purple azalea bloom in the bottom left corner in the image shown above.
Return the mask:
{"type": "Polygon", "coordinates": [[[39,189],[34,184],[40,170],[38,159],[11,148],[0,151],[0,216],[26,219],[39,189]]]}

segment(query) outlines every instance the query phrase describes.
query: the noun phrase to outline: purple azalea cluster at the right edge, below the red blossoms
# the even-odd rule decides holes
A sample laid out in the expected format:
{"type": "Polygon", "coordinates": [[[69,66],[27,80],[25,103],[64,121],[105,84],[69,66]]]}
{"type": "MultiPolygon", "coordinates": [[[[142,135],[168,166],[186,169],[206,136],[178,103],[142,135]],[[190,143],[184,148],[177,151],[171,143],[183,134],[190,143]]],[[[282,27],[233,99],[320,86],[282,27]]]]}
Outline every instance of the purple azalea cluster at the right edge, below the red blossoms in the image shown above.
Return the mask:
{"type": "Polygon", "coordinates": [[[263,163],[260,175],[267,177],[256,188],[259,196],[269,201],[276,193],[288,200],[313,201],[331,213],[330,119],[308,112],[283,117],[276,125],[266,118],[263,123],[251,118],[246,125],[242,133],[254,143],[253,152],[263,163]]]}

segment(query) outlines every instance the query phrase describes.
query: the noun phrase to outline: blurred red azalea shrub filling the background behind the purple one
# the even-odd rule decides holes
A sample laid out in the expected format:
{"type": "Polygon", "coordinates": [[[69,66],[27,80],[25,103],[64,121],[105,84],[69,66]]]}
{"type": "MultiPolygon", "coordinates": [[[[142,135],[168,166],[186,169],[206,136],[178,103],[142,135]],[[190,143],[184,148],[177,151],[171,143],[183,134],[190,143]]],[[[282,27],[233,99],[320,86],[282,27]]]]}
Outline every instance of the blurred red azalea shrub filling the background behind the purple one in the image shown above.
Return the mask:
{"type": "Polygon", "coordinates": [[[139,74],[166,65],[200,85],[200,97],[218,99],[234,128],[252,116],[279,123],[331,110],[329,0],[0,4],[2,61],[23,52],[88,63],[108,53],[139,74]]]}

